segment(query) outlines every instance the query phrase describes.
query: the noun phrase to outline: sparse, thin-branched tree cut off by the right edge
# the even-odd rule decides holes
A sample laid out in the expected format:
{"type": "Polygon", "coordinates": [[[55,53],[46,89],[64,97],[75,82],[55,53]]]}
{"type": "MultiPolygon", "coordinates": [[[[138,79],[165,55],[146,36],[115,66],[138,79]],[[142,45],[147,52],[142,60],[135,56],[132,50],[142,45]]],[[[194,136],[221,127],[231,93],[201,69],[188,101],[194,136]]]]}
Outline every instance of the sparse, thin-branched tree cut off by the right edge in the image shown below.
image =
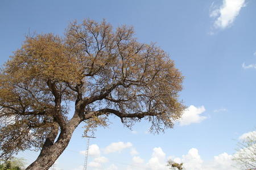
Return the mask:
{"type": "Polygon", "coordinates": [[[233,160],[244,169],[256,169],[256,131],[252,131],[238,142],[233,160]]]}

